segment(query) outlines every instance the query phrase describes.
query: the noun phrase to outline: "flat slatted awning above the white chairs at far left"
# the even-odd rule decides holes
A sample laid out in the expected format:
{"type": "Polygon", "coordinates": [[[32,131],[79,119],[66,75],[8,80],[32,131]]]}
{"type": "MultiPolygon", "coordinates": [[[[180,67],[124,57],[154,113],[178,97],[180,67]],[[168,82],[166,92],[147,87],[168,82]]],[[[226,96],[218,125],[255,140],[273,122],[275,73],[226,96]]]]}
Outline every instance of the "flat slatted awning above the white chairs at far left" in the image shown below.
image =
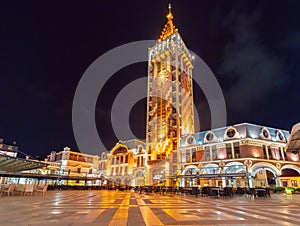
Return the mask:
{"type": "Polygon", "coordinates": [[[0,171],[20,172],[47,166],[46,163],[0,154],[0,171]]]}

